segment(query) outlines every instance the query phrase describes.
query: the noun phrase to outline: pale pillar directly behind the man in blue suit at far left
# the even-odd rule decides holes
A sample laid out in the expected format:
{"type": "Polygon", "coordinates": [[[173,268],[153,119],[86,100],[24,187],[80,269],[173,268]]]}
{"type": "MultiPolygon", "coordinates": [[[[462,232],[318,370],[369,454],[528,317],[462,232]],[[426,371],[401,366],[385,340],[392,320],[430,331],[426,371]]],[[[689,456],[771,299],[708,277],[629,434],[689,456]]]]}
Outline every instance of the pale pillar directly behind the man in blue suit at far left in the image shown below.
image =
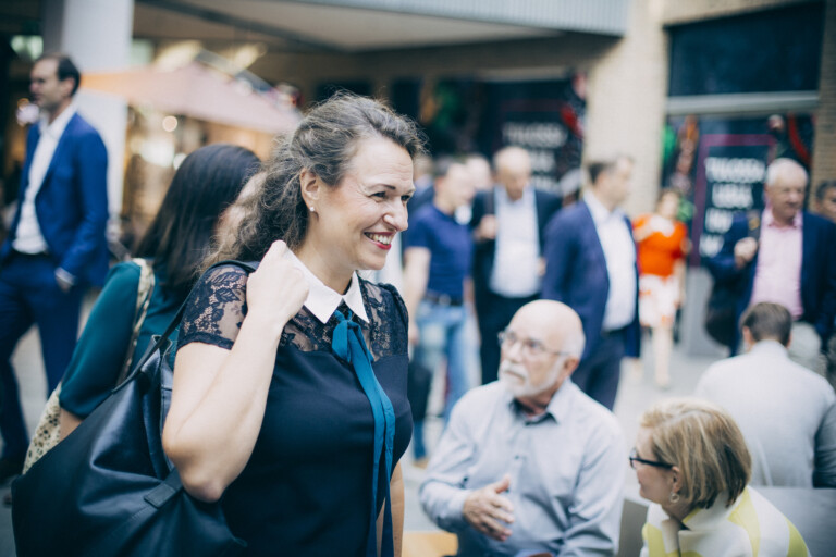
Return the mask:
{"type": "MultiPolygon", "coordinates": [[[[70,54],[82,72],[125,70],[131,60],[134,0],[45,0],[44,51],[70,54]]],[[[111,223],[122,209],[127,104],[112,96],[79,90],[78,112],[108,147],[111,223]]]]}

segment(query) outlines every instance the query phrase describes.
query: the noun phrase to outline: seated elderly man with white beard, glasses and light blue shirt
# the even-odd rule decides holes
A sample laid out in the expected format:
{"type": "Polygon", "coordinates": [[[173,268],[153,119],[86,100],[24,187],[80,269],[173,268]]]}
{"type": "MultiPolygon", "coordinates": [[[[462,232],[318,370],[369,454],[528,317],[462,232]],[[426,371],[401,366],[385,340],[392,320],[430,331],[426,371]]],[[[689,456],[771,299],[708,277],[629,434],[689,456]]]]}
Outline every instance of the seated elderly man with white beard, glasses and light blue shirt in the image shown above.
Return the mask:
{"type": "Polygon", "coordinates": [[[612,412],[569,379],[583,342],[568,306],[522,306],[500,334],[499,381],[453,409],[420,500],[459,556],[616,552],[625,450],[612,412]]]}

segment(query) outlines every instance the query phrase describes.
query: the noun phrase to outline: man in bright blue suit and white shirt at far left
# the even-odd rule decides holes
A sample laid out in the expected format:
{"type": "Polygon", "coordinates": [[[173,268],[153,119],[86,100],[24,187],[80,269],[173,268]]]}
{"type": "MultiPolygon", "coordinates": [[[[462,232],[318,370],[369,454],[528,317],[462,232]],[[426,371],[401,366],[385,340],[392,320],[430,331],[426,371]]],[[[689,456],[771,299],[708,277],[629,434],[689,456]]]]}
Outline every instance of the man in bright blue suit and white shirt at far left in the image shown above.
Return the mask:
{"type": "Polygon", "coordinates": [[[17,341],[38,325],[54,389],[75,347],[84,290],[108,271],[108,157],[76,113],[81,75],[66,55],[47,54],[30,77],[41,120],[26,139],[17,212],[0,248],[0,482],[20,472],[28,446],[11,366],[17,341]]]}

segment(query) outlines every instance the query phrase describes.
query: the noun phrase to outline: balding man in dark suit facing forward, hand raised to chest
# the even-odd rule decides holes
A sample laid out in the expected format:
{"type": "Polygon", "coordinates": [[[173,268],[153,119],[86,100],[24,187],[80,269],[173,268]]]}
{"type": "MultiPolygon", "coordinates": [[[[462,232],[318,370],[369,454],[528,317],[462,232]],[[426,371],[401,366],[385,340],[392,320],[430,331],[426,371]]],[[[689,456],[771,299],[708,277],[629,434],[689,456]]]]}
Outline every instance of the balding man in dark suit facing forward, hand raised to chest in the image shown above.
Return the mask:
{"type": "Polygon", "coordinates": [[[474,199],[474,301],[479,321],[482,384],[496,381],[499,334],[519,308],[540,297],[543,231],[561,199],[531,185],[521,147],[496,151],[499,185],[474,199]]]}

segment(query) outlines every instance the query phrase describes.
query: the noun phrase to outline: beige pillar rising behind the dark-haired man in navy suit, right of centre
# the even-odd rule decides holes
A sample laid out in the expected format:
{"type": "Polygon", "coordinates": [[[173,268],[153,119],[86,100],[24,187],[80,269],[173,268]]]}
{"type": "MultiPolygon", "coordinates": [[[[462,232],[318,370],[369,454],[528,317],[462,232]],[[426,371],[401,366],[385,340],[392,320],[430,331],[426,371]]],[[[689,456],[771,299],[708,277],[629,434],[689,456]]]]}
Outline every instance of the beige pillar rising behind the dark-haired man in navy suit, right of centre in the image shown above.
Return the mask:
{"type": "Polygon", "coordinates": [[[663,0],[632,0],[627,33],[590,69],[583,158],[636,159],[625,209],[649,211],[659,190],[667,96],[663,0]]]}

